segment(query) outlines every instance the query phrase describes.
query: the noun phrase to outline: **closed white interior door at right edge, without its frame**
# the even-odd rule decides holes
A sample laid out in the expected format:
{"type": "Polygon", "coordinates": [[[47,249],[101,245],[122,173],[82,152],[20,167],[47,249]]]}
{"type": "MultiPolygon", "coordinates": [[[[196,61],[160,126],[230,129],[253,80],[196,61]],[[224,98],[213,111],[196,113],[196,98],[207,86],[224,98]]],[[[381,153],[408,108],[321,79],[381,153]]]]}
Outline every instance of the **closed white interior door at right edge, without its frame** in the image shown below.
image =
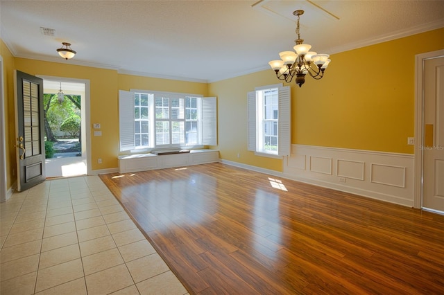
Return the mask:
{"type": "Polygon", "coordinates": [[[444,57],[424,61],[422,207],[444,212],[444,57]]]}

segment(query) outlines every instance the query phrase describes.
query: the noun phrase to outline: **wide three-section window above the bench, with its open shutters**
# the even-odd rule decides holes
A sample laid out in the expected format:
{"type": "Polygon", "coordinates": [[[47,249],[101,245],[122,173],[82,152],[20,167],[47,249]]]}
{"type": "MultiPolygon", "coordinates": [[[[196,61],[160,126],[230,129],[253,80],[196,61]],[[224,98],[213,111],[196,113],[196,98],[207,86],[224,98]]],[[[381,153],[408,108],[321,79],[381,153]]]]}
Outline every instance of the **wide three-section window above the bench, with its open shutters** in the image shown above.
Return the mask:
{"type": "Polygon", "coordinates": [[[216,145],[216,98],[119,91],[120,150],[216,145]]]}

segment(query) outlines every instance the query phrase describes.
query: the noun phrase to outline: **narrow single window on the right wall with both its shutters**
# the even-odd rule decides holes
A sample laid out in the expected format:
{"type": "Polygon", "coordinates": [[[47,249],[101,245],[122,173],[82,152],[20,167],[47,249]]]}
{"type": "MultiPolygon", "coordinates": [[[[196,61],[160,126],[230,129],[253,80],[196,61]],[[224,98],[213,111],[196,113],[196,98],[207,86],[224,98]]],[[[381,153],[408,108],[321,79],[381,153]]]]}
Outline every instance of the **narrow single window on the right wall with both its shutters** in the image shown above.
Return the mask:
{"type": "Polygon", "coordinates": [[[264,156],[290,154],[290,87],[258,87],[248,93],[248,150],[264,156]]]}

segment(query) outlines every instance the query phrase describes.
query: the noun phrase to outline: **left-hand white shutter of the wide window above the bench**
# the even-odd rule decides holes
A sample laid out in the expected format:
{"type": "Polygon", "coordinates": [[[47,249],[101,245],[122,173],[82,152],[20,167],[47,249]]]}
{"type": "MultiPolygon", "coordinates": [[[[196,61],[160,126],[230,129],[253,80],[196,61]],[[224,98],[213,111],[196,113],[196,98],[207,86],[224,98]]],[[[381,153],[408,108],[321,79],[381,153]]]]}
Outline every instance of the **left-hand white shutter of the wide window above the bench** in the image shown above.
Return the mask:
{"type": "Polygon", "coordinates": [[[119,90],[120,151],[133,150],[134,143],[134,92],[119,90]]]}

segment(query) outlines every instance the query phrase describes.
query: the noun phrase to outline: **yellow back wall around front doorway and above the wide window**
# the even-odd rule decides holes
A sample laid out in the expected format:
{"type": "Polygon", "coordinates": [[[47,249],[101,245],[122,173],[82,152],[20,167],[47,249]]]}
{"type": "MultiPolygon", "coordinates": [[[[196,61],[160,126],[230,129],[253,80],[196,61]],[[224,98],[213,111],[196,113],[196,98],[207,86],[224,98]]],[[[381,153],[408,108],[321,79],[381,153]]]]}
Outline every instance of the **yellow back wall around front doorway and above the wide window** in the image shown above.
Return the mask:
{"type": "MultiPolygon", "coordinates": [[[[5,46],[6,47],[6,46],[5,46]]],[[[6,48],[7,50],[7,48],[6,48]]],[[[8,51],[9,53],[9,51],[8,51]]],[[[11,55],[12,57],[12,55],[11,55]]],[[[5,59],[5,57],[3,57],[5,59]]],[[[117,168],[117,155],[119,154],[119,89],[147,89],[157,91],[171,91],[182,93],[196,93],[207,95],[207,83],[184,82],[166,80],[160,78],[148,78],[135,75],[123,75],[115,70],[97,69],[88,66],[76,66],[69,62],[43,62],[24,58],[11,58],[8,65],[8,78],[13,78],[13,70],[23,71],[31,75],[47,75],[63,78],[89,80],[90,84],[90,119],[91,124],[101,123],[102,136],[92,136],[91,159],[92,170],[117,168]],[[102,163],[98,163],[98,159],[102,163]]],[[[8,83],[8,107],[7,117],[10,122],[8,142],[14,144],[15,138],[15,111],[13,81],[8,83]],[[12,108],[10,107],[12,105],[12,108]]],[[[91,134],[94,134],[92,125],[89,126],[91,134]]],[[[7,132],[8,133],[8,132],[7,132]]],[[[15,150],[11,149],[8,158],[8,187],[15,181],[15,150]]]]}

